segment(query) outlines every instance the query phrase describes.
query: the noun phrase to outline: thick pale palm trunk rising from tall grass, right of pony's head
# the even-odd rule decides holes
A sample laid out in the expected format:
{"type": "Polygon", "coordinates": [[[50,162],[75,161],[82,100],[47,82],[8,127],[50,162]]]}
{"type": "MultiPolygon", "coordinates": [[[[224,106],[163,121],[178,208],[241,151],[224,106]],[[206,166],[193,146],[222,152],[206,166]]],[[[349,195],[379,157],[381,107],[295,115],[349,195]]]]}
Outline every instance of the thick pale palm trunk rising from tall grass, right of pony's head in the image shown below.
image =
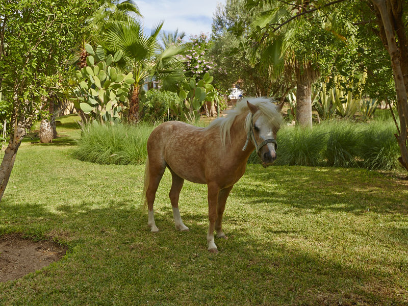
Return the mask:
{"type": "Polygon", "coordinates": [[[317,71],[310,65],[296,67],[296,124],[312,127],[312,84],[317,71]]]}

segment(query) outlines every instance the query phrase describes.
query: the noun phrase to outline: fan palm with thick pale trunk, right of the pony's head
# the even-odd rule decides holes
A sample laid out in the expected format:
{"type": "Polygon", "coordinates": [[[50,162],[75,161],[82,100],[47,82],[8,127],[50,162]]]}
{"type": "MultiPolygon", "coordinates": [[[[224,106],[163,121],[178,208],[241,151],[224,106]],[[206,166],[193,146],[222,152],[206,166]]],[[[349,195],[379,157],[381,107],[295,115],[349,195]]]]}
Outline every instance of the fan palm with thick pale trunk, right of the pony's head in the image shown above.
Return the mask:
{"type": "Polygon", "coordinates": [[[253,22],[256,30],[251,36],[262,49],[261,62],[270,67],[275,78],[285,69],[292,70],[296,78],[296,123],[310,127],[312,84],[326,74],[324,67],[335,64],[339,54],[334,55],[333,50],[344,48],[352,31],[343,16],[323,11],[325,5],[320,2],[247,1],[250,8],[264,8],[253,22]]]}

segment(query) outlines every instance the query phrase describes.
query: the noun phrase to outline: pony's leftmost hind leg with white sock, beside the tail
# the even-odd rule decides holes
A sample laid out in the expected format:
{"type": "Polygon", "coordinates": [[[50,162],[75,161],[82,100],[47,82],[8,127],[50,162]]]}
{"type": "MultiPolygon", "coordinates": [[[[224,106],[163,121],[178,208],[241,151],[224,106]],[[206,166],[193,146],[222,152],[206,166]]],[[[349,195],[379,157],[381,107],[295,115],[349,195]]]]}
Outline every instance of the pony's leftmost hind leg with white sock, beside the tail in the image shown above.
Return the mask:
{"type": "Polygon", "coordinates": [[[159,183],[163,177],[164,170],[166,170],[165,163],[152,163],[149,160],[149,169],[148,169],[148,187],[146,190],[146,200],[147,200],[147,208],[148,208],[148,221],[147,225],[150,227],[151,232],[159,232],[159,228],[157,228],[155,223],[154,211],[153,211],[153,204],[156,199],[156,191],[159,187],[159,183]]]}

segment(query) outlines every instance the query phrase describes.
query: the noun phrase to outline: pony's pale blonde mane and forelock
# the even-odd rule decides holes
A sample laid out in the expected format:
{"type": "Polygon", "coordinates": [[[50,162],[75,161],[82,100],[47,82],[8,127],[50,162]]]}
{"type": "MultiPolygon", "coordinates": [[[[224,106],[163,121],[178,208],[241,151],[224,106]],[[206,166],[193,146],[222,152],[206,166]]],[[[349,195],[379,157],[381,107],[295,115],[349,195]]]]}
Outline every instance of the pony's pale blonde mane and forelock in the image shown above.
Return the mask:
{"type": "MultiPolygon", "coordinates": [[[[245,112],[249,111],[248,105],[246,101],[253,104],[254,106],[259,108],[259,111],[254,115],[257,116],[258,114],[265,117],[265,119],[276,129],[279,128],[282,124],[282,115],[278,109],[278,107],[272,102],[272,99],[259,97],[259,98],[242,98],[234,109],[227,111],[226,117],[215,119],[213,122],[210,123],[208,126],[209,129],[214,127],[218,127],[220,130],[221,136],[221,143],[222,146],[225,148],[227,143],[231,143],[231,126],[234,123],[234,120],[237,116],[244,114],[245,112]]],[[[250,112],[245,118],[245,131],[248,132],[251,125],[251,116],[250,112]]]]}

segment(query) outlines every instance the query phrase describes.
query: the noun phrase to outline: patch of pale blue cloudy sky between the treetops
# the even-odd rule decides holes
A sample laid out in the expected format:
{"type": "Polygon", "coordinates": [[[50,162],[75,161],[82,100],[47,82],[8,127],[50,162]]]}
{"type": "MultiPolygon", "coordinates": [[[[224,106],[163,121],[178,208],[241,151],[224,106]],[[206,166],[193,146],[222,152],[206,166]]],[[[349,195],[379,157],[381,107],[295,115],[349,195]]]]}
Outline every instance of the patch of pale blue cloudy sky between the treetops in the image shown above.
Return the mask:
{"type": "MultiPolygon", "coordinates": [[[[160,21],[164,21],[162,30],[174,32],[177,28],[180,32],[186,32],[186,37],[199,35],[200,33],[211,34],[211,23],[217,3],[225,3],[225,0],[143,0],[135,1],[143,15],[145,31],[155,27],[160,21]]],[[[146,31],[146,32],[147,32],[146,31]]]]}

